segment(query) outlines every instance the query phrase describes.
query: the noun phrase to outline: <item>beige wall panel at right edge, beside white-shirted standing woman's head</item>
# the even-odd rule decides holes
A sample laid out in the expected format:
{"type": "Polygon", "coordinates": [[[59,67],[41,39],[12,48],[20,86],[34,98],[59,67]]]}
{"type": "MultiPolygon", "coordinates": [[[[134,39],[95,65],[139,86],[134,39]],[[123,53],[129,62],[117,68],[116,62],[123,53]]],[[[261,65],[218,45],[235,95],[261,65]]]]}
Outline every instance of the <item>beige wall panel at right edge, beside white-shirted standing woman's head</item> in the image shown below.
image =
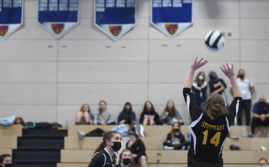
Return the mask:
{"type": "Polygon", "coordinates": [[[241,66],[246,72],[246,77],[249,77],[252,82],[269,83],[268,62],[242,62],[241,66]]]}

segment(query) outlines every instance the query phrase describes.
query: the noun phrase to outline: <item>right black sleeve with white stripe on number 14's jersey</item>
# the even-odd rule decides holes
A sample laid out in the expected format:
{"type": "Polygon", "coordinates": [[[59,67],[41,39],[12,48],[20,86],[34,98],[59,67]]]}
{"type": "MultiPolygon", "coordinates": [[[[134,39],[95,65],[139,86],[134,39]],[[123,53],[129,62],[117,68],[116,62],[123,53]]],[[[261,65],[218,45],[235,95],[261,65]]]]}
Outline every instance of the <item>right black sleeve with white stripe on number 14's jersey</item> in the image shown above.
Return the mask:
{"type": "Polygon", "coordinates": [[[234,100],[231,102],[229,108],[227,109],[227,111],[230,113],[229,116],[227,116],[230,126],[234,121],[234,118],[236,117],[238,109],[241,106],[242,106],[242,97],[235,97],[234,100]]]}

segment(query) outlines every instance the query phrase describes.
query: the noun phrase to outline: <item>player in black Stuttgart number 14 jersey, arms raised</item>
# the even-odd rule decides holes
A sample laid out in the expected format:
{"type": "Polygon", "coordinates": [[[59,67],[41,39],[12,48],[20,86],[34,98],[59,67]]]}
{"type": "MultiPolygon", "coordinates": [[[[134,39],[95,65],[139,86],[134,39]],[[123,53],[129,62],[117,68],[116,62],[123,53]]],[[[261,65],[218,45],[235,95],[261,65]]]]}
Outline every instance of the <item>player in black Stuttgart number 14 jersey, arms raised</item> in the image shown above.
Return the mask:
{"type": "MultiPolygon", "coordinates": [[[[202,58],[203,59],[203,58],[202,58]]],[[[188,152],[188,167],[222,167],[222,148],[228,136],[231,123],[234,121],[238,108],[242,104],[242,95],[231,68],[223,64],[221,70],[230,79],[234,100],[225,109],[224,99],[218,93],[211,95],[205,102],[205,108],[200,108],[191,92],[192,79],[195,70],[208,61],[202,59],[191,65],[183,88],[183,96],[192,119],[192,143],[188,152]]]]}

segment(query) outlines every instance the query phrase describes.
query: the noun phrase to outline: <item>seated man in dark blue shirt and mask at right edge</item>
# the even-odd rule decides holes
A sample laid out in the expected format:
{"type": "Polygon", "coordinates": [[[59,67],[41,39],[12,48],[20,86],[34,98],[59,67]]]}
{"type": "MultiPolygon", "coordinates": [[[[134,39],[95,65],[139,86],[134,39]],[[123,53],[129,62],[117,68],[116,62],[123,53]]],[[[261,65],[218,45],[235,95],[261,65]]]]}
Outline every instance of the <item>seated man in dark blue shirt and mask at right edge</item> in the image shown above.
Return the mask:
{"type": "Polygon", "coordinates": [[[269,126],[269,103],[265,101],[264,96],[253,106],[253,118],[251,123],[251,133],[249,137],[253,137],[256,126],[269,126]]]}

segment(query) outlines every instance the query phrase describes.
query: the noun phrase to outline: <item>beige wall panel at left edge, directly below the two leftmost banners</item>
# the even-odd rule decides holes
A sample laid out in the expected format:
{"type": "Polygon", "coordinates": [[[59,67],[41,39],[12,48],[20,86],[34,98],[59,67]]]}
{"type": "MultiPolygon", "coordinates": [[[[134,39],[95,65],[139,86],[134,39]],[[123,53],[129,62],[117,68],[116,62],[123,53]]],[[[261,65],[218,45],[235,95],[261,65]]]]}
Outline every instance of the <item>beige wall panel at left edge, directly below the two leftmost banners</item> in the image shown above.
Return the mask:
{"type": "Polygon", "coordinates": [[[0,61],[56,61],[56,40],[5,40],[0,61]]]}

